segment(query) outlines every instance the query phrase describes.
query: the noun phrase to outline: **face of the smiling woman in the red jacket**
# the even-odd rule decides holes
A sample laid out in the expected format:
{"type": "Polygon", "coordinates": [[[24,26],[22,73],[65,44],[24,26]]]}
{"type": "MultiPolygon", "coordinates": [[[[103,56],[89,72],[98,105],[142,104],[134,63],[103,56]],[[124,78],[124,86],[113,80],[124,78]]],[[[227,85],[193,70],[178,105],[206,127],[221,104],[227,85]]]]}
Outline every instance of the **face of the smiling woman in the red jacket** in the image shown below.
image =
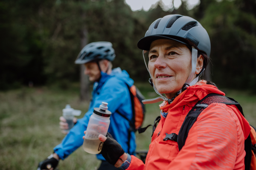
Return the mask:
{"type": "Polygon", "coordinates": [[[191,73],[191,51],[174,40],[155,40],[151,43],[148,57],[148,68],[157,91],[172,98],[191,73]]]}

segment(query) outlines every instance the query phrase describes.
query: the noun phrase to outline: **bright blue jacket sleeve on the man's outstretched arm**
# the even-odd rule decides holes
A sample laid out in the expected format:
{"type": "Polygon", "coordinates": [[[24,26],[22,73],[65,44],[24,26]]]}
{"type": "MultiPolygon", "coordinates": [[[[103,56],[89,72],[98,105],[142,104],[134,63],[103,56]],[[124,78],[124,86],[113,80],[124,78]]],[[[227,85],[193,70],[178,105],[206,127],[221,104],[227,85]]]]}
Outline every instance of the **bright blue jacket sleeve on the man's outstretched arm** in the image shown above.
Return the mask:
{"type": "Polygon", "coordinates": [[[58,144],[54,148],[54,152],[60,159],[65,159],[73,151],[83,144],[82,136],[84,136],[84,130],[87,129],[87,125],[90,116],[93,113],[93,108],[98,108],[102,102],[108,103],[108,110],[114,113],[120,105],[125,104],[125,99],[129,95],[129,91],[125,83],[116,78],[110,78],[103,85],[98,95],[93,96],[93,101],[90,109],[85,113],[82,119],[78,119],[76,125],[70,130],[70,132],[64,137],[61,144],[58,144]]]}

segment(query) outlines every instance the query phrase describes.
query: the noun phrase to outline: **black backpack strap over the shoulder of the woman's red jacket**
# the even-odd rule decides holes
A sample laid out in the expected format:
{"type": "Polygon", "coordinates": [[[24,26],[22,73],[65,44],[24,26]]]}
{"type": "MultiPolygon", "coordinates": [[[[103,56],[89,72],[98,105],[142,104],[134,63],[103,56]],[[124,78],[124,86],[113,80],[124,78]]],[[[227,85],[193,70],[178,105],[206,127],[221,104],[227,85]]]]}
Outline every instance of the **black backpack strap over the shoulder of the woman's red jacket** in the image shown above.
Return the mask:
{"type": "MultiPolygon", "coordinates": [[[[243,109],[241,105],[236,102],[236,100],[222,96],[220,94],[208,94],[203,99],[198,101],[195,106],[189,111],[187,114],[183,124],[180,127],[180,131],[178,134],[178,147],[179,150],[182,149],[186,142],[186,138],[188,136],[189,130],[194,125],[195,121],[197,120],[199,114],[204,111],[205,108],[208,107],[208,105],[212,103],[223,103],[225,105],[236,105],[236,107],[239,109],[239,111],[243,113],[243,109]]],[[[245,170],[250,170],[250,162],[251,162],[251,150],[252,150],[252,142],[250,139],[250,135],[247,137],[247,139],[244,141],[244,150],[246,152],[246,155],[244,157],[244,164],[245,164],[245,170]]]]}

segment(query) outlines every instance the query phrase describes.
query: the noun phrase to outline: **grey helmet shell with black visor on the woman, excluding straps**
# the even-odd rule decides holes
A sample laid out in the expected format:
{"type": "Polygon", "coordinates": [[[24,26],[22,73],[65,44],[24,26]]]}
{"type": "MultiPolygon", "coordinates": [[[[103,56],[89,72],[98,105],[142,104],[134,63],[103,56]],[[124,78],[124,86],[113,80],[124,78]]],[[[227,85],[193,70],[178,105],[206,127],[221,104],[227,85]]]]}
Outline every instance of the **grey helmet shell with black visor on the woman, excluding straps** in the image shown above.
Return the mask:
{"type": "Polygon", "coordinates": [[[195,46],[198,50],[204,51],[208,57],[210,56],[209,35],[204,27],[191,17],[173,14],[155,20],[137,46],[142,50],[149,50],[151,42],[158,39],[176,40],[195,46]]]}

